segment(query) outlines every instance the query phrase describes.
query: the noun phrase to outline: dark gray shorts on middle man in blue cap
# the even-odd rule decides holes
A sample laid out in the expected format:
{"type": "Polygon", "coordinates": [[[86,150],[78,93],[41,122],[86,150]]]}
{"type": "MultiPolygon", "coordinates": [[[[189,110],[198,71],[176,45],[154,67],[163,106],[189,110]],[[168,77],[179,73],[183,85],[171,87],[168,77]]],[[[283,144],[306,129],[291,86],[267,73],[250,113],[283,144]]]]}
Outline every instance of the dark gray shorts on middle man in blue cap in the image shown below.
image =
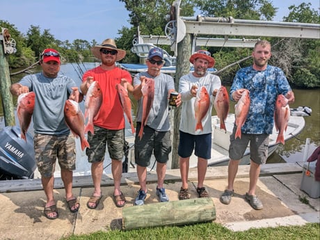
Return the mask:
{"type": "MultiPolygon", "coordinates": [[[[137,122],[136,132],[140,131],[141,123],[137,122]]],[[[171,152],[170,131],[156,131],[150,127],[143,128],[143,138],[138,137],[134,141],[134,159],[138,166],[147,167],[150,165],[152,152],[159,163],[166,163],[171,152]]]]}

